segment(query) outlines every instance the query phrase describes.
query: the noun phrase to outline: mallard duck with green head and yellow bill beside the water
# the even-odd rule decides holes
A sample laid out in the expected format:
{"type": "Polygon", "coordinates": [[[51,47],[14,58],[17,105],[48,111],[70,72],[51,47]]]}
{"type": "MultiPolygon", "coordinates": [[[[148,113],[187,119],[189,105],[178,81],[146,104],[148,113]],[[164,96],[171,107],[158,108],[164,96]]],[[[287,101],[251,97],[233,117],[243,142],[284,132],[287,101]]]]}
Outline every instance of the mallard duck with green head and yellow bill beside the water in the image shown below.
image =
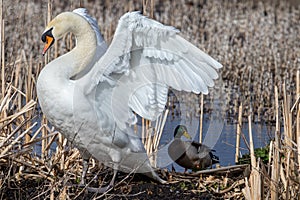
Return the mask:
{"type": "Polygon", "coordinates": [[[219,158],[215,156],[210,148],[195,141],[183,141],[181,136],[191,139],[187,128],[178,125],[174,130],[174,140],[168,147],[171,159],[181,167],[192,170],[201,170],[219,163],[219,158]]]}

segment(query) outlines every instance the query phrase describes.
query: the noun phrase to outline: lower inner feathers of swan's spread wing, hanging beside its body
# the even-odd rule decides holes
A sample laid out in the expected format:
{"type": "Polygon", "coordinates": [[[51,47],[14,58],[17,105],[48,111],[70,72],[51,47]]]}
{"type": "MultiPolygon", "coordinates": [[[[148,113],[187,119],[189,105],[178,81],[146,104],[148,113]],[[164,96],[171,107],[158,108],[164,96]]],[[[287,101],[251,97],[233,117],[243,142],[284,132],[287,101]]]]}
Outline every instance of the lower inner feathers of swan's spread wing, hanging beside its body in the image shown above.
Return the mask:
{"type": "Polygon", "coordinates": [[[114,121],[121,129],[125,129],[126,124],[137,122],[132,111],[146,119],[156,120],[167,102],[168,87],[166,85],[150,82],[144,84],[140,80],[130,79],[120,80],[118,82],[120,84],[112,93],[112,113],[114,121]]]}

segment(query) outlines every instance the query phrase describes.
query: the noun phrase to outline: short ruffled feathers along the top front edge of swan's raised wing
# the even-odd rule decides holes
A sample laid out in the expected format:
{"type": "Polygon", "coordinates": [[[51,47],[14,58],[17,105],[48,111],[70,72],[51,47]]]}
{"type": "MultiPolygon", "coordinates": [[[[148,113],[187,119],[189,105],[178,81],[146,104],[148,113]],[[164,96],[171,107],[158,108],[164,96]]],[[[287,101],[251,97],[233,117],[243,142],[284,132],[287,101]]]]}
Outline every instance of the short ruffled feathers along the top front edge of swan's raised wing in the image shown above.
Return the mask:
{"type": "Polygon", "coordinates": [[[136,49],[143,49],[157,45],[161,40],[167,40],[170,35],[178,32],[174,27],[142,16],[139,12],[129,12],[123,15],[118,23],[114,38],[106,54],[96,63],[91,91],[104,76],[111,73],[128,74],[131,53],[136,49]]]}

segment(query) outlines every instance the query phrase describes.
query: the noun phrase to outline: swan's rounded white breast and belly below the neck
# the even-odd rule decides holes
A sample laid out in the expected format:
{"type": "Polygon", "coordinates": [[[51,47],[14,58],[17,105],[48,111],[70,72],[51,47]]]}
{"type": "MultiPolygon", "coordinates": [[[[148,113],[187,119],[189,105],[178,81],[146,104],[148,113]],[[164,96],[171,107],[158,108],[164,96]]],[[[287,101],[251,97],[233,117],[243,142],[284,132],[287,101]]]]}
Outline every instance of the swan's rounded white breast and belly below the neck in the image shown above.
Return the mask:
{"type": "Polygon", "coordinates": [[[82,83],[63,77],[55,67],[46,66],[37,81],[39,104],[48,121],[79,148],[111,144],[110,129],[104,132],[100,123],[105,116],[84,94],[82,83]]]}

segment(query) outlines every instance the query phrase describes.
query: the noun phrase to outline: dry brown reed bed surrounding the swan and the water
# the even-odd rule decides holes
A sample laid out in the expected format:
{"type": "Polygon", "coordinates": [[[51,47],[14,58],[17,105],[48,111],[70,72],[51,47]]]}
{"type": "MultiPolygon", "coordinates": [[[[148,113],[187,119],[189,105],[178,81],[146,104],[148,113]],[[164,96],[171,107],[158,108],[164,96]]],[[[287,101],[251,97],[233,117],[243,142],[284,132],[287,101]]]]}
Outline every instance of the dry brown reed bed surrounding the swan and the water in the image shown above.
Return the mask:
{"type": "MultiPolygon", "coordinates": [[[[296,1],[0,3],[1,199],[299,199],[300,8],[296,1]],[[165,186],[143,181],[145,177],[140,175],[121,173],[116,187],[104,196],[86,194],[84,188],[74,186],[82,169],[79,152],[47,123],[38,106],[35,83],[45,63],[75,45],[72,36],[67,35],[43,58],[40,35],[45,24],[52,16],[79,6],[86,7],[97,18],[107,41],[111,40],[122,14],[143,10],[144,14],[180,29],[186,39],[219,60],[224,65],[220,84],[204,96],[203,103],[199,105],[198,95],[183,94],[182,100],[191,105],[192,115],[198,115],[202,106],[203,112],[209,113],[211,102],[222,93],[226,119],[238,122],[237,126],[248,122],[250,135],[251,123],[275,125],[268,164],[254,157],[250,141],[249,173],[243,174],[245,167],[241,166],[225,172],[223,168],[188,175],[162,170],[161,176],[170,181],[165,186]]],[[[171,109],[170,113],[173,112],[171,109]]],[[[164,116],[158,124],[144,123],[145,132],[151,127],[162,130],[164,116]]],[[[241,131],[238,134],[243,136],[241,131]]],[[[159,138],[156,135],[144,141],[149,153],[156,150],[159,138]]],[[[91,163],[90,184],[107,184],[112,176],[110,169],[95,160],[91,163]]]]}

